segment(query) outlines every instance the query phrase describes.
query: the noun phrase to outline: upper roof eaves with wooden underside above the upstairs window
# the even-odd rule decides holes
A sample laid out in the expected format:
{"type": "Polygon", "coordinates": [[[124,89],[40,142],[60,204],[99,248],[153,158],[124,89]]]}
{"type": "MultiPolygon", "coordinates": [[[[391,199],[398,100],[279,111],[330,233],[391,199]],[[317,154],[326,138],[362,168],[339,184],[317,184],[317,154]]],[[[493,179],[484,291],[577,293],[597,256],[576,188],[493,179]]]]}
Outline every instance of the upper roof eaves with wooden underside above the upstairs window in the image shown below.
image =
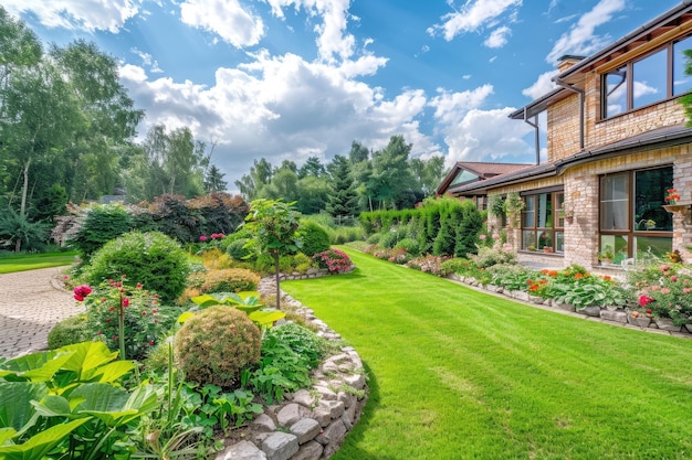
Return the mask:
{"type": "MultiPolygon", "coordinates": [[[[557,76],[553,77],[556,83],[574,85],[579,83],[578,75],[604,65],[612,60],[618,58],[625,53],[629,53],[637,47],[650,43],[652,41],[663,39],[669,33],[678,31],[682,24],[686,24],[686,30],[691,29],[692,21],[692,0],[684,0],[677,7],[665,11],[659,17],[652,19],[637,30],[615,41],[602,50],[583,58],[569,68],[565,69],[557,76]]],[[[564,58],[565,56],[563,56],[564,58]]],[[[576,57],[576,56],[568,56],[576,57]]],[[[512,114],[512,119],[528,119],[541,111],[545,110],[548,105],[560,100],[573,94],[565,87],[558,87],[551,93],[533,100],[531,104],[522,107],[512,114]]]]}

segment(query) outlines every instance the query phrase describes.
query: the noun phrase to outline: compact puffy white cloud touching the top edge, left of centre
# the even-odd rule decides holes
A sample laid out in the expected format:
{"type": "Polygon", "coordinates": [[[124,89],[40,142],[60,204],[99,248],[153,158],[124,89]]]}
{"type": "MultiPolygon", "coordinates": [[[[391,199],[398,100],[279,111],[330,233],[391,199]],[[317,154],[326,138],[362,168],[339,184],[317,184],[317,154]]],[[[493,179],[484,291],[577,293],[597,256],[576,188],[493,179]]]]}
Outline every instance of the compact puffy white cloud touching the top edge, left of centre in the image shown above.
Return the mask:
{"type": "Polygon", "coordinates": [[[186,0],[180,3],[180,18],[235,47],[255,45],[264,34],[262,18],[243,9],[238,0],[186,0]]]}

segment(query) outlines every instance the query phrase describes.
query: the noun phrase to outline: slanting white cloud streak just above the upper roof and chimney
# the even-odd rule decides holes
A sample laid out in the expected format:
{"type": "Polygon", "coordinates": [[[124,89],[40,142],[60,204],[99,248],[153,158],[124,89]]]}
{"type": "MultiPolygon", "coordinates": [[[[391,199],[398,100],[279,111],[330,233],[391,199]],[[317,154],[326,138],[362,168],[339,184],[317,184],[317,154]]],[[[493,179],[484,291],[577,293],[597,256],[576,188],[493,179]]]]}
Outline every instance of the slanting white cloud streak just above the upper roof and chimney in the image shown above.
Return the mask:
{"type": "Polygon", "coordinates": [[[596,35],[596,28],[608,23],[625,7],[625,0],[600,0],[591,11],[579,18],[569,32],[555,42],[546,61],[553,64],[565,54],[588,55],[605,46],[608,36],[596,35]]]}

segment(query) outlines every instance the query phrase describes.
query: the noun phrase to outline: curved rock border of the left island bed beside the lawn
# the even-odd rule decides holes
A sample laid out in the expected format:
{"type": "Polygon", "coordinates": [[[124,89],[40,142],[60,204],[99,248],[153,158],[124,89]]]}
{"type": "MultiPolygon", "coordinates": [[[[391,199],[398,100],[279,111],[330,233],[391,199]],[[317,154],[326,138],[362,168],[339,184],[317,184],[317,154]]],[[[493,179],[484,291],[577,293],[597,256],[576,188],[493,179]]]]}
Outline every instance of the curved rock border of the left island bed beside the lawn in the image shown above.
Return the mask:
{"type": "MultiPolygon", "coordinates": [[[[304,274],[316,278],[323,272],[304,274]]],[[[294,279],[294,278],[282,278],[294,279]]],[[[295,278],[305,279],[305,278],[295,278]]],[[[263,278],[258,291],[274,295],[275,280],[263,278]]],[[[317,328],[318,335],[340,340],[313,310],[281,291],[281,303],[317,328]]],[[[235,441],[216,460],[318,460],[328,459],[358,422],[367,402],[367,377],[360,356],[353,346],[343,346],[311,373],[315,384],[287,395],[281,404],[268,406],[247,429],[234,434],[235,441]],[[238,438],[242,440],[238,441],[238,438]]]]}

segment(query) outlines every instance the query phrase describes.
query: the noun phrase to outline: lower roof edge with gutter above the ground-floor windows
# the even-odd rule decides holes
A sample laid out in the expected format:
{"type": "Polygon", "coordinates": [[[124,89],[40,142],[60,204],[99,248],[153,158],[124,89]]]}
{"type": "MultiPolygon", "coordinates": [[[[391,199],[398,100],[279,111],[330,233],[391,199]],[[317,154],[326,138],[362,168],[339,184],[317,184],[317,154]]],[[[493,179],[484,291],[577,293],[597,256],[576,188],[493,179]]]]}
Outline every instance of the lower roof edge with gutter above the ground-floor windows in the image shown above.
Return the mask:
{"type": "Polygon", "coordinates": [[[451,191],[462,195],[486,194],[487,190],[493,188],[559,175],[567,168],[576,164],[685,143],[692,143],[692,128],[684,125],[669,126],[653,129],[593,150],[585,149],[570,157],[551,163],[523,168],[484,181],[460,184],[459,186],[454,186],[451,191]]]}

